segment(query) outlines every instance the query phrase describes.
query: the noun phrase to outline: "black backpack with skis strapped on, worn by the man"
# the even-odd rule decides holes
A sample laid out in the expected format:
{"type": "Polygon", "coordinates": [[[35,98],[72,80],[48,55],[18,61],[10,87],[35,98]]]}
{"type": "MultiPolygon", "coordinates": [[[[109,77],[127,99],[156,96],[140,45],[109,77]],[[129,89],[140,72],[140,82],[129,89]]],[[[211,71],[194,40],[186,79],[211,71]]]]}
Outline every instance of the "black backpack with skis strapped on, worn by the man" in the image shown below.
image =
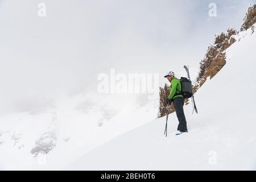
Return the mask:
{"type": "MultiPolygon", "coordinates": [[[[184,65],[184,68],[187,72],[188,78],[185,78],[185,77],[180,78],[181,90],[177,90],[177,92],[179,92],[179,93],[175,93],[174,97],[175,96],[183,96],[184,98],[191,98],[192,103],[193,103],[193,111],[195,110],[197,113],[195,98],[192,93],[192,82],[189,77],[188,67],[184,65]]],[[[192,111],[192,114],[193,114],[193,111],[192,111]]]]}

